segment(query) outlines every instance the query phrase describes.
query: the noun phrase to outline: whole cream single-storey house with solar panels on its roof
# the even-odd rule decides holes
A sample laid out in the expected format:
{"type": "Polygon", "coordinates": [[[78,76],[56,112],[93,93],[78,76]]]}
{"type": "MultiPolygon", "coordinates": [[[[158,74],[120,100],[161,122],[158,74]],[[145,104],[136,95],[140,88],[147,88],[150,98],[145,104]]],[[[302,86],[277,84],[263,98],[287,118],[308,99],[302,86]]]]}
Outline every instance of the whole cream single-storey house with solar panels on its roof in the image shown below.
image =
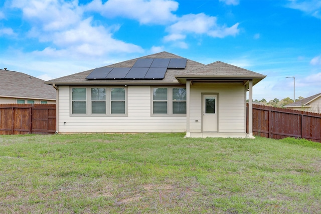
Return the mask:
{"type": "Polygon", "coordinates": [[[186,132],[252,138],[246,91],[264,75],[220,61],[204,65],[161,52],[47,81],[59,133],[186,132]]]}

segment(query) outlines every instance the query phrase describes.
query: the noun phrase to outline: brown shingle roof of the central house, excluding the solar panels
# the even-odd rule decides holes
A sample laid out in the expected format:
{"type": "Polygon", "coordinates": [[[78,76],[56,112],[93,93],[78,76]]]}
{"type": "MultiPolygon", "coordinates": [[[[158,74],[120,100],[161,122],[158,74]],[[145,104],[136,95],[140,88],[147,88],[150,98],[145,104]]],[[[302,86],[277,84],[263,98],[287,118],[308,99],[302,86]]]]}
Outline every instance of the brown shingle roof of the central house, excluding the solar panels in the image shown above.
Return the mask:
{"type": "MultiPolygon", "coordinates": [[[[137,59],[143,58],[183,58],[181,56],[169,53],[161,52],[156,54],[151,54],[136,59],[131,59],[112,65],[104,66],[104,68],[129,68],[134,65],[137,59]]],[[[127,84],[127,85],[156,85],[156,84],[184,84],[187,78],[211,78],[211,79],[253,79],[253,85],[258,81],[263,79],[265,76],[253,71],[249,71],[243,68],[236,67],[223,62],[214,62],[209,65],[205,65],[190,59],[187,59],[185,69],[167,69],[164,79],[161,80],[138,80],[138,79],[95,79],[89,80],[86,77],[94,69],[83,71],[80,73],[72,74],[69,76],[60,77],[57,79],[52,79],[46,82],[46,84],[56,84],[56,85],[106,85],[106,84],[127,84]],[[256,81],[254,81],[256,79],[256,81]]]]}

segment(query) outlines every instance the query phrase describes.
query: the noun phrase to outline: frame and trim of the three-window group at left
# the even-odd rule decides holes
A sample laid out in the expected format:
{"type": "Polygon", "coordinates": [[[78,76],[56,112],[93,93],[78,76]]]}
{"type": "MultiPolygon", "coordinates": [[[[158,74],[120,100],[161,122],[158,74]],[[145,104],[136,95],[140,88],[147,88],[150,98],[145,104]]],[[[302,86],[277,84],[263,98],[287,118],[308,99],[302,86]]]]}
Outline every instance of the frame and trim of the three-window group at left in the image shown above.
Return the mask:
{"type": "Polygon", "coordinates": [[[127,117],[128,116],[128,100],[127,100],[127,87],[121,86],[70,86],[69,87],[70,97],[70,116],[71,117],[127,117]],[[86,88],[86,109],[87,114],[72,114],[72,89],[73,88],[86,88]],[[106,114],[92,114],[91,103],[91,88],[104,88],[106,91],[106,114]],[[125,114],[111,114],[111,88],[124,88],[125,89],[125,114]]]}

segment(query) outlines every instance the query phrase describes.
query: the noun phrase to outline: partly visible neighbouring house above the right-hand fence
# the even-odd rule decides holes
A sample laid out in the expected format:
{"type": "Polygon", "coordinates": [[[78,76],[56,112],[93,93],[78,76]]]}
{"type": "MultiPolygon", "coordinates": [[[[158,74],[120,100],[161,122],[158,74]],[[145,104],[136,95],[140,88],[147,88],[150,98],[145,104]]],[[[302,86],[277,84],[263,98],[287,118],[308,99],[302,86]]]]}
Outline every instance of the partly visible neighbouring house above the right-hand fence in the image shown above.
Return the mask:
{"type": "Polygon", "coordinates": [[[284,105],[284,108],[321,114],[321,93],[284,105]]]}

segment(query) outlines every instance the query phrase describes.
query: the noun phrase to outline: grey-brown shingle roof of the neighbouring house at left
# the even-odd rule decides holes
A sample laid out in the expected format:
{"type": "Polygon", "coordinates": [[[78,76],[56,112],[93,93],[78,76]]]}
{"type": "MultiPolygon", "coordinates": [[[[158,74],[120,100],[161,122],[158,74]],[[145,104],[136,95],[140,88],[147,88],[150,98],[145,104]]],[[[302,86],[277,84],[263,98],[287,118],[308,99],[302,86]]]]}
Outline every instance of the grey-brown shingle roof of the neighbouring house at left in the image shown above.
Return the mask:
{"type": "Polygon", "coordinates": [[[34,76],[0,69],[0,96],[56,100],[56,89],[34,76]]]}

